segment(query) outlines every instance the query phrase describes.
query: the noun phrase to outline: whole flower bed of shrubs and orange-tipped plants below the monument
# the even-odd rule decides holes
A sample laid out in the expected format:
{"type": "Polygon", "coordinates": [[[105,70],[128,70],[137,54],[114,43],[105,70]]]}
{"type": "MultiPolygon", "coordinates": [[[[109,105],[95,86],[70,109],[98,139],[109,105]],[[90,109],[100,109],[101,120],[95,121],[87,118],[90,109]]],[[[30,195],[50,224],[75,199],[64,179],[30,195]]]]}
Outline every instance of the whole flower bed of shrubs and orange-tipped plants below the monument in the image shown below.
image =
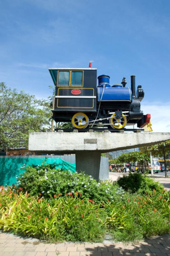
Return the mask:
{"type": "Polygon", "coordinates": [[[0,228],[48,241],[101,242],[105,232],[135,241],[168,233],[170,192],[138,178],[143,181],[132,193],[84,173],[28,167],[18,187],[0,192],[0,228]]]}

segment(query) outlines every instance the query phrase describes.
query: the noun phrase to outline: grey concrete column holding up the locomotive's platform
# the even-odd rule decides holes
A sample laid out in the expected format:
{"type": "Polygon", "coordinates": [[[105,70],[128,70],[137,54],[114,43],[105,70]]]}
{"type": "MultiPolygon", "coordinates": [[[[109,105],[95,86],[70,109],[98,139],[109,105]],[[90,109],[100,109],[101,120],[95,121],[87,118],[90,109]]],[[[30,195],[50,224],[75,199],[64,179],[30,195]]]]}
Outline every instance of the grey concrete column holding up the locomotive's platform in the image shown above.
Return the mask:
{"type": "Polygon", "coordinates": [[[100,152],[78,151],[75,153],[75,159],[76,159],[77,172],[84,171],[86,174],[93,176],[93,178],[95,178],[96,180],[99,180],[100,159],[101,159],[100,152]]]}

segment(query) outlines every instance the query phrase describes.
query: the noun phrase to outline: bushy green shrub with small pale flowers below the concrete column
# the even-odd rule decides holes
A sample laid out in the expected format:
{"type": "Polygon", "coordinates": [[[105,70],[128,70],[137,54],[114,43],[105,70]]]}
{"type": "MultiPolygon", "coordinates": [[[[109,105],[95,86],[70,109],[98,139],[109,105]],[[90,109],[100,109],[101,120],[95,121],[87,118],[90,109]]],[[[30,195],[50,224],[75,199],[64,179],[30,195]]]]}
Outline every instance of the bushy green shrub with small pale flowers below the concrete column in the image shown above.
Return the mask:
{"type": "Polygon", "coordinates": [[[70,173],[55,169],[54,165],[28,166],[26,172],[19,176],[18,187],[32,196],[54,197],[78,193],[81,198],[93,200],[95,204],[120,200],[124,191],[109,182],[97,182],[91,176],[81,173],[70,173]]]}

